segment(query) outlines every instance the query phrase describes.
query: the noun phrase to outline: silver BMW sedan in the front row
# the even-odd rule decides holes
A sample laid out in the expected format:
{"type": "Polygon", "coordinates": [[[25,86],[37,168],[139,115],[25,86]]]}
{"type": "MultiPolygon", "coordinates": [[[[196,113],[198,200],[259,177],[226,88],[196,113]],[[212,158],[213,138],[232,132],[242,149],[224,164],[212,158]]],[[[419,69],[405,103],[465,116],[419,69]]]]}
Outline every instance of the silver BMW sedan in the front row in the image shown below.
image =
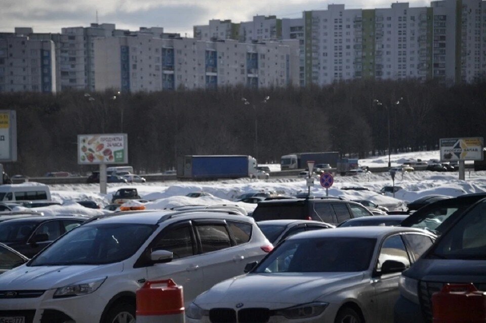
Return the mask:
{"type": "Polygon", "coordinates": [[[249,273],[197,296],[186,321],[393,322],[400,273],[434,239],[420,229],[390,226],[297,234],[260,264],[249,263],[249,273]]]}

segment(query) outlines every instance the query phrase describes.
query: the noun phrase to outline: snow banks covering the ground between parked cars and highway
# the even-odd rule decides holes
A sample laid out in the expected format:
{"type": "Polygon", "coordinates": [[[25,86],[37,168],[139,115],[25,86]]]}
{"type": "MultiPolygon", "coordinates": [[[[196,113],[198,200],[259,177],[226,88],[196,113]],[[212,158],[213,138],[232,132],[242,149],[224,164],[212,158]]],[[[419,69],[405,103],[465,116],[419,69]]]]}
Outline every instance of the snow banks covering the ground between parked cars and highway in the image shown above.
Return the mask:
{"type": "MultiPolygon", "coordinates": [[[[392,155],[392,166],[400,165],[409,159],[437,159],[438,151],[418,152],[392,155]]],[[[374,157],[359,160],[360,165],[370,167],[386,166],[388,156],[374,157]]],[[[278,165],[269,165],[271,170],[277,169],[278,165]]],[[[441,194],[451,197],[466,193],[486,192],[486,171],[466,170],[466,180],[459,180],[458,172],[438,173],[431,171],[416,171],[410,173],[399,173],[395,176],[395,186],[402,190],[395,194],[395,198],[378,194],[377,192],[384,186],[391,186],[392,179],[388,172],[371,173],[355,176],[334,177],[334,185],[329,189],[329,196],[343,197],[349,200],[368,199],[379,205],[390,209],[404,209],[407,202],[411,202],[419,197],[430,194],[441,194]],[[342,190],[349,187],[363,187],[369,191],[342,190]]],[[[311,193],[316,196],[325,196],[326,189],[319,184],[318,177],[314,180],[314,187],[311,193]]],[[[188,204],[221,204],[231,202],[238,195],[251,191],[273,191],[279,194],[295,195],[299,192],[307,192],[305,179],[297,178],[270,178],[249,179],[241,178],[235,180],[219,181],[166,181],[148,182],[141,184],[129,184],[137,188],[139,195],[151,202],[146,204],[148,209],[168,208],[178,205],[188,204]],[[185,197],[191,192],[207,192],[214,197],[189,198],[185,197]]],[[[98,184],[56,184],[50,186],[52,199],[58,202],[67,202],[65,206],[50,206],[39,208],[46,214],[66,214],[66,212],[82,213],[87,216],[102,213],[102,211],[87,209],[70,203],[70,200],[95,200],[102,205],[110,203],[111,195],[120,187],[127,184],[109,184],[108,194],[99,193],[98,184]]],[[[238,203],[248,211],[252,211],[256,204],[238,203]]]]}

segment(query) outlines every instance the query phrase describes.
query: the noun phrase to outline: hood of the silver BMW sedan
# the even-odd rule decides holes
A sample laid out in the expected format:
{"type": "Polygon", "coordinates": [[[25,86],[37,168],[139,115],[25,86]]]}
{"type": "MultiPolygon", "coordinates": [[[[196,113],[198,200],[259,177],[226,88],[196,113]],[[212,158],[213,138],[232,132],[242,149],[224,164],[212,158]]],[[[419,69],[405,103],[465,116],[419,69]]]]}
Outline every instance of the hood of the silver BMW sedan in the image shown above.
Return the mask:
{"type": "Polygon", "coordinates": [[[295,304],[296,300],[306,303],[341,291],[362,278],[363,272],[250,273],[213,286],[199,295],[195,303],[207,308],[215,304],[233,307],[237,303],[266,303],[269,308],[281,308],[295,304]]]}

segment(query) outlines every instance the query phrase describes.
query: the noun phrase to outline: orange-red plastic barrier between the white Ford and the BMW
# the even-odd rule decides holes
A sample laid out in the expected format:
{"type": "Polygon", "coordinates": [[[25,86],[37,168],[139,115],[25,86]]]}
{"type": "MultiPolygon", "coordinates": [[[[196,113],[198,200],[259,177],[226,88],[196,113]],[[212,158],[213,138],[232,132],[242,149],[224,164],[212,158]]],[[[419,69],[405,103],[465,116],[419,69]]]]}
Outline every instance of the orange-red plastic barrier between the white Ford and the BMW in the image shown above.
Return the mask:
{"type": "Polygon", "coordinates": [[[182,286],[173,280],[146,282],[137,291],[137,323],[184,323],[182,286]]]}

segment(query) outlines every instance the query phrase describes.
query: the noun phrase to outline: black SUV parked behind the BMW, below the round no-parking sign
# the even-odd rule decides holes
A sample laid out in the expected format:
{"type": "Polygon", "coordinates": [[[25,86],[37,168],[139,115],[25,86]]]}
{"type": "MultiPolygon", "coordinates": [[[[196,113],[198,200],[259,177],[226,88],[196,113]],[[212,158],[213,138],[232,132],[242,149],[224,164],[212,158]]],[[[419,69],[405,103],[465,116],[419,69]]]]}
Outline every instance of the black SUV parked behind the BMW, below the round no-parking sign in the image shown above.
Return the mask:
{"type": "Polygon", "coordinates": [[[255,221],[298,219],[339,224],[347,219],[373,216],[359,203],[333,198],[262,201],[252,214],[255,221]]]}

